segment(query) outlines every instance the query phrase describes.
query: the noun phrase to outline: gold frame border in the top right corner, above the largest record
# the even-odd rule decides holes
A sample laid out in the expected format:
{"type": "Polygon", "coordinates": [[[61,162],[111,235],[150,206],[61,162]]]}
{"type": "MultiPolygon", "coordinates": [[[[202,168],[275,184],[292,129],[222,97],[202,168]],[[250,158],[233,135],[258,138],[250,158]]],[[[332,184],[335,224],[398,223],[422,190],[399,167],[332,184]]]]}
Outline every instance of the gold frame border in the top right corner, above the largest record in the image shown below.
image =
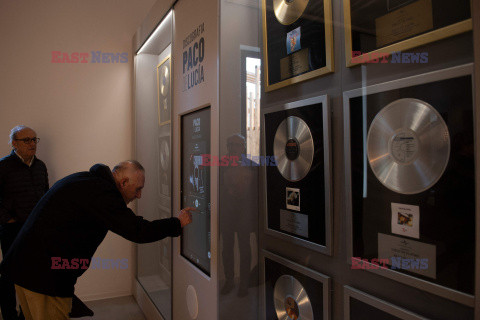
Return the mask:
{"type": "MultiPolygon", "coordinates": [[[[470,12],[472,8],[472,1],[470,0],[470,12]]],[[[343,18],[345,21],[345,62],[347,67],[353,67],[358,64],[362,64],[362,62],[352,62],[352,19],[351,19],[351,10],[350,10],[350,0],[343,0],[343,18]]],[[[461,34],[467,31],[472,30],[472,18],[463,20],[449,26],[433,30],[418,36],[414,36],[413,38],[409,38],[406,40],[402,40],[397,43],[393,43],[381,49],[377,49],[374,51],[363,52],[362,55],[355,57],[360,61],[366,55],[371,55],[372,53],[388,53],[391,54],[392,52],[408,50],[412,48],[416,48],[422,45],[425,45],[430,42],[435,42],[438,40],[442,40],[448,37],[455,36],[457,34],[461,34]]],[[[365,59],[367,60],[367,59],[365,59]]]]}

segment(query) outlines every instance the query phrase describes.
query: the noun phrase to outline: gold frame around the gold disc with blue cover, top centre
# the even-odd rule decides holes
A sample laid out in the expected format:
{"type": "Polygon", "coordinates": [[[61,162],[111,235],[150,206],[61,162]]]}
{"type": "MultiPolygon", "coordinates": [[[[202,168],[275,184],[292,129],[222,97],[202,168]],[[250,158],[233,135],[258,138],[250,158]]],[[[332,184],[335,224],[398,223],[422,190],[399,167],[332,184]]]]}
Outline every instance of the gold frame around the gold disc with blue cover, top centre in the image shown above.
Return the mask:
{"type": "Polygon", "coordinates": [[[323,1],[323,18],[325,21],[325,60],[326,65],[320,69],[316,69],[289,79],[270,84],[268,79],[268,49],[267,49],[267,0],[262,0],[262,29],[263,29],[263,59],[265,62],[265,92],[277,90],[294,83],[306,81],[311,78],[319,77],[334,72],[333,63],[333,19],[332,19],[332,3],[331,0],[323,1]]]}

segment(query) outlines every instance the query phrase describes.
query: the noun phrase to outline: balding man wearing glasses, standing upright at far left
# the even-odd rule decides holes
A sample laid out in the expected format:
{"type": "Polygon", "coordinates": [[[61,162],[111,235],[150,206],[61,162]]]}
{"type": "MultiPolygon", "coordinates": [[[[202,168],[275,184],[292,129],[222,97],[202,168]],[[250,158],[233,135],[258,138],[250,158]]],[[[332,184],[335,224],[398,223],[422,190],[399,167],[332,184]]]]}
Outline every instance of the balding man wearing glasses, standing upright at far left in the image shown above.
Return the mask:
{"type": "MultiPolygon", "coordinates": [[[[0,159],[0,244],[5,256],[30,212],[48,191],[45,163],[35,157],[37,134],[26,126],[10,132],[12,152],[0,159]]],[[[11,280],[0,277],[0,308],[3,319],[17,316],[15,287],[11,280]]]]}

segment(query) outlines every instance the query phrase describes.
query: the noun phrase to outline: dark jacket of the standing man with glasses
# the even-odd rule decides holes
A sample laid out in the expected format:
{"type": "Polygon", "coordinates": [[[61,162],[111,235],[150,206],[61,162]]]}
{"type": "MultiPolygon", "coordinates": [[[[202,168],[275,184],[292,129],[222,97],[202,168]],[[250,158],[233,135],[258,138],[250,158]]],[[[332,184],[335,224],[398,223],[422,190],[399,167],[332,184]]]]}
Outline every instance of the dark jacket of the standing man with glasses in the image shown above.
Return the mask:
{"type": "Polygon", "coordinates": [[[48,174],[43,161],[34,157],[29,167],[15,151],[0,159],[0,224],[11,218],[24,223],[47,191],[48,174]]]}

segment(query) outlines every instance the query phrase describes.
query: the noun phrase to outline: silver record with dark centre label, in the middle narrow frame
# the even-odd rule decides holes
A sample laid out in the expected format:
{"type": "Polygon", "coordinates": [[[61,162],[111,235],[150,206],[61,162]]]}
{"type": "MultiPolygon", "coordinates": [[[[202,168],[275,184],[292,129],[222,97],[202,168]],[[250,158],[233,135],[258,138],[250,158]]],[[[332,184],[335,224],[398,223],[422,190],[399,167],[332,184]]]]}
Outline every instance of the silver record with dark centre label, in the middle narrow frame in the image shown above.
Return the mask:
{"type": "Polygon", "coordinates": [[[310,171],[314,145],[308,125],[299,117],[284,119],[277,128],[273,154],[277,169],[288,181],[302,180],[310,171]]]}

